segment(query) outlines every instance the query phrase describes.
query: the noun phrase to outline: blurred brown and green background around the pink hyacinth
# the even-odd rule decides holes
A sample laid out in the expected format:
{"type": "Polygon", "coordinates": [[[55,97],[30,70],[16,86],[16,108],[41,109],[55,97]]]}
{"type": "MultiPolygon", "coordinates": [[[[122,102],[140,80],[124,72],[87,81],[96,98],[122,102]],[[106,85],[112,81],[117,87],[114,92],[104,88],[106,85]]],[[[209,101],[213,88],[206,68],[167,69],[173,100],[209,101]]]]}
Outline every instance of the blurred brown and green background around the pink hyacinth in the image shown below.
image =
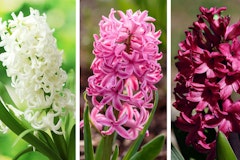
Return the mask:
{"type": "MultiPolygon", "coordinates": [[[[150,136],[146,137],[145,142],[149,141],[158,134],[166,133],[166,0],[81,0],[80,1],[80,114],[83,113],[84,100],[82,93],[88,86],[87,79],[92,75],[90,65],[94,59],[92,54],[93,50],[93,34],[99,34],[98,23],[102,19],[102,16],[108,17],[110,9],[122,10],[126,12],[127,9],[132,9],[134,12],[137,10],[147,10],[148,15],[156,19],[154,25],[156,30],[161,30],[162,35],[159,45],[160,51],[163,52],[163,58],[160,60],[160,64],[163,71],[163,79],[157,84],[159,92],[159,105],[155,114],[154,120],[150,126],[150,136]]],[[[116,14],[117,15],[117,14],[116,14]]],[[[117,17],[117,16],[116,16],[117,17]]],[[[82,117],[81,117],[82,119],[82,117]]],[[[82,132],[80,132],[81,139],[83,138],[82,132]]],[[[93,135],[93,143],[96,146],[98,144],[99,135],[93,135]]],[[[130,142],[118,138],[117,143],[120,143],[120,154],[126,151],[130,142]]],[[[83,145],[80,141],[80,151],[83,152],[83,145]]],[[[84,156],[80,157],[84,160],[84,156]]],[[[161,155],[157,159],[166,159],[166,150],[161,152],[161,155]]]]}

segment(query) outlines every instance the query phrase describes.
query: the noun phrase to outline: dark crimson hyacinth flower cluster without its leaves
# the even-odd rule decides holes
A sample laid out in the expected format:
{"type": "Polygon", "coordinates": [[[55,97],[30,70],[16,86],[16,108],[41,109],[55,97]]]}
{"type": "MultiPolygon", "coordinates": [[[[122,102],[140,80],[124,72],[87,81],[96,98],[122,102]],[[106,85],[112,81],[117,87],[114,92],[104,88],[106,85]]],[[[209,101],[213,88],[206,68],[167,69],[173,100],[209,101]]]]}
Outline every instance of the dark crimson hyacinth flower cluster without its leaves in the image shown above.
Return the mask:
{"type": "MultiPolygon", "coordinates": [[[[240,21],[230,25],[226,7],[200,7],[198,21],[179,43],[179,73],[174,107],[176,125],[188,132],[186,143],[214,159],[216,140],[209,133],[240,133],[240,21]],[[234,98],[235,97],[235,98],[234,98]]],[[[216,136],[216,135],[215,135],[216,136]]]]}

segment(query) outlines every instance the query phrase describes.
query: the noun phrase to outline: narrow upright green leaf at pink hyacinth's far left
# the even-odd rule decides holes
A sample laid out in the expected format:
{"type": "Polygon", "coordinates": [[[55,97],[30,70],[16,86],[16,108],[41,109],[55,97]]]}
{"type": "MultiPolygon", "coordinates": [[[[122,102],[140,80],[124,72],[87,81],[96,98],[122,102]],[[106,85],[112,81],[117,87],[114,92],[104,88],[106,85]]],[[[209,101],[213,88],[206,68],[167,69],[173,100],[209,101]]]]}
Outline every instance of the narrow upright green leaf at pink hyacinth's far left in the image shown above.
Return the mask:
{"type": "Polygon", "coordinates": [[[83,120],[84,120],[83,133],[84,133],[85,159],[94,160],[88,106],[86,106],[86,108],[85,108],[83,120]]]}

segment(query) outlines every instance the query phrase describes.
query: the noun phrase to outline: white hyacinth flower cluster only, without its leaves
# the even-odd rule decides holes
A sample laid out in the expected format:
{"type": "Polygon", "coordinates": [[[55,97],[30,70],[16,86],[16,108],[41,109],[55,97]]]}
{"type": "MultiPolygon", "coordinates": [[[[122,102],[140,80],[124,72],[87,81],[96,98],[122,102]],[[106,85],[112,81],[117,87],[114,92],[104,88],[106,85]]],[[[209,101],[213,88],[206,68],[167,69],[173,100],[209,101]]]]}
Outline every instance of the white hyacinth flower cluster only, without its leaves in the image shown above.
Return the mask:
{"type": "Polygon", "coordinates": [[[24,117],[35,129],[50,129],[60,134],[61,118],[74,110],[74,95],[63,88],[67,74],[62,70],[62,52],[46,22],[46,15],[30,9],[24,17],[12,14],[12,20],[0,20],[0,46],[5,52],[0,61],[6,66],[12,87],[24,108],[24,117]]]}

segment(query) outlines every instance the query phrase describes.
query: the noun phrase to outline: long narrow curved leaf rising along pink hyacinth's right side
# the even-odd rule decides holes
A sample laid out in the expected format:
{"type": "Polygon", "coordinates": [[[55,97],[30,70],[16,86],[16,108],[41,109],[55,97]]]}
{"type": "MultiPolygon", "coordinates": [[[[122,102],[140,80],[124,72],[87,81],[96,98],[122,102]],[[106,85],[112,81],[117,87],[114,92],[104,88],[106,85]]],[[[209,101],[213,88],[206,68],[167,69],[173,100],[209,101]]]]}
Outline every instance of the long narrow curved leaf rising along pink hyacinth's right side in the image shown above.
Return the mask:
{"type": "Polygon", "coordinates": [[[141,143],[142,143],[142,141],[145,137],[146,131],[147,131],[148,127],[150,126],[151,122],[152,122],[153,116],[154,116],[155,111],[157,109],[157,105],[158,105],[158,92],[155,91],[154,106],[153,106],[153,109],[152,109],[151,114],[149,116],[149,119],[148,119],[147,123],[145,124],[143,130],[140,132],[138,138],[130,146],[130,148],[129,148],[128,152],[126,153],[126,155],[124,156],[123,160],[129,160],[137,152],[139,146],[141,145],[141,143]]]}

